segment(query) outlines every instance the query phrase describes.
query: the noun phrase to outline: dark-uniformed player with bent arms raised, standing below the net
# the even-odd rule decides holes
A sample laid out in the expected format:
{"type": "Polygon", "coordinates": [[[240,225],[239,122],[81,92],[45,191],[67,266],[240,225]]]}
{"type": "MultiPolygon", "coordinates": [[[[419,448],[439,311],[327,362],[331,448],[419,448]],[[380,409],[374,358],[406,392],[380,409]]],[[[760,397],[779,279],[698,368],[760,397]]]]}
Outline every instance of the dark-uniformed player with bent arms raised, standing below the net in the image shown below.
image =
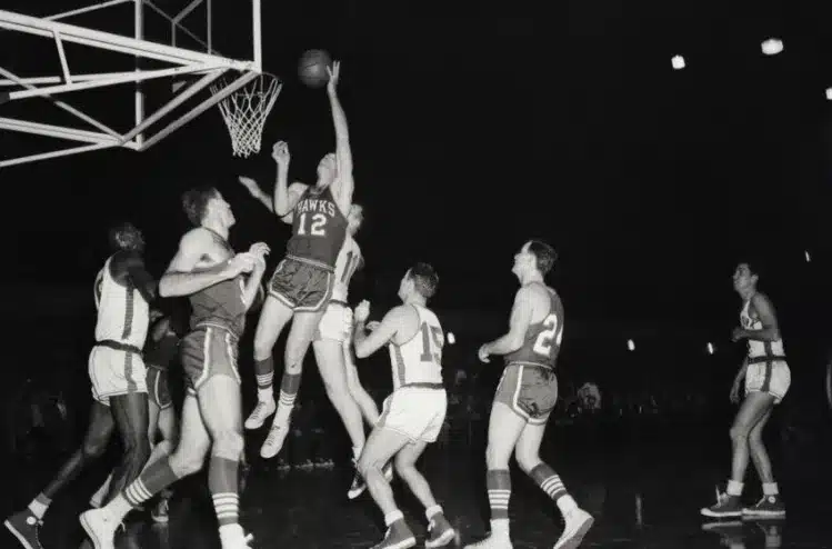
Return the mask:
{"type": "Polygon", "coordinates": [[[208,487],[222,549],[249,547],[238,520],[243,438],[237,345],[245,312],[257,299],[269,248],[258,242],[248,252],[234,254],[228,243],[234,216],[217,189],[189,190],[182,204],[196,228],[182,237],[159,282],[161,296],[189,296],[192,309],[191,331],[180,342],[188,393],[179,445],[107,506],[81,515],[96,549],[112,549],[116,527],[130,510],[199,471],[209,451],[208,487]]]}

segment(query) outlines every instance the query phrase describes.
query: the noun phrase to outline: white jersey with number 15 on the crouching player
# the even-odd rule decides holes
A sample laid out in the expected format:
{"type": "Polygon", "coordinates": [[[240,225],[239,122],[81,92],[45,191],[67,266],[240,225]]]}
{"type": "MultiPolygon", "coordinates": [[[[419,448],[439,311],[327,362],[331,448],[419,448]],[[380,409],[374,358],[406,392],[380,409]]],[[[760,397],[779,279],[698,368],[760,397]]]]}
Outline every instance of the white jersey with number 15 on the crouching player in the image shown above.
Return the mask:
{"type": "Polygon", "coordinates": [[[410,305],[419,313],[419,331],[402,345],[390,343],[393,390],[410,383],[442,383],[442,325],[430,309],[410,305]]]}

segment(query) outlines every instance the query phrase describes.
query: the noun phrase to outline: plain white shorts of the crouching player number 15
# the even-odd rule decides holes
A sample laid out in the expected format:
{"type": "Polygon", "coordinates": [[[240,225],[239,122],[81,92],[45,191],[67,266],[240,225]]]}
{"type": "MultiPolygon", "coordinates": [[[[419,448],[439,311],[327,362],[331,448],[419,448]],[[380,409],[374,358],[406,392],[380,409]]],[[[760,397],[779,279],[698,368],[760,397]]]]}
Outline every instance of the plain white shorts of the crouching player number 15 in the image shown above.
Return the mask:
{"type": "Polygon", "coordinates": [[[403,386],[387,399],[378,427],[391,429],[410,439],[435,442],[448,411],[448,395],[441,385],[403,386]]]}

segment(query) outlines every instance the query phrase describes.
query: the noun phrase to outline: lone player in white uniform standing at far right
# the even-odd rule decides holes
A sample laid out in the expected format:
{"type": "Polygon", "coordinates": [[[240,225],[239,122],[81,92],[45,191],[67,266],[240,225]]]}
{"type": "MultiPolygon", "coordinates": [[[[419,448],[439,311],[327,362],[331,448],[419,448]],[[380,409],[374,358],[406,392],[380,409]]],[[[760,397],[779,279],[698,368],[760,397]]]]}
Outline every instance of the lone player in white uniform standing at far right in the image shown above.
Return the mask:
{"type": "Polygon", "coordinates": [[[748,356],[743,359],[731,388],[731,401],[740,401],[740,382],[745,378],[745,399],[731,426],[733,458],[731,479],[724,496],[716,505],[702,509],[705,517],[778,518],[785,516],[778,483],[771,470],[769,453],[763,445],[763,429],[774,406],[785,397],[791,385],[791,371],[785,362],[783,340],[778,318],[769,298],[756,290],[759,274],[749,263],[740,263],[734,271],[734,290],[742,298],[740,327],[731,335],[733,341],[746,340],[748,356]],[[741,497],[749,453],[763,483],[763,498],[753,507],[743,507],[741,497]]]}

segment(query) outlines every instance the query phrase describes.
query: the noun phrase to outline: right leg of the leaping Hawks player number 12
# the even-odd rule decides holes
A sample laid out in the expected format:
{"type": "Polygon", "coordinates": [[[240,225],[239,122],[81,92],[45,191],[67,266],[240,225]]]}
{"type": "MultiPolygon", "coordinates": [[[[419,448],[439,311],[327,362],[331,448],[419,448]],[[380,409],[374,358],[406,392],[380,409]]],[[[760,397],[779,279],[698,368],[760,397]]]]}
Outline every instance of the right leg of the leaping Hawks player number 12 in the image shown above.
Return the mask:
{"type": "Polygon", "coordinates": [[[318,323],[323,316],[323,308],[318,311],[294,312],[292,328],[285,342],[283,377],[280,381],[280,399],[278,409],[272,420],[269,436],[265,437],[260,456],[269,459],[277,456],[283,448],[283,440],[289,432],[289,421],[294,408],[294,400],[300,390],[301,373],[303,372],[303,359],[312,343],[318,323]]]}

